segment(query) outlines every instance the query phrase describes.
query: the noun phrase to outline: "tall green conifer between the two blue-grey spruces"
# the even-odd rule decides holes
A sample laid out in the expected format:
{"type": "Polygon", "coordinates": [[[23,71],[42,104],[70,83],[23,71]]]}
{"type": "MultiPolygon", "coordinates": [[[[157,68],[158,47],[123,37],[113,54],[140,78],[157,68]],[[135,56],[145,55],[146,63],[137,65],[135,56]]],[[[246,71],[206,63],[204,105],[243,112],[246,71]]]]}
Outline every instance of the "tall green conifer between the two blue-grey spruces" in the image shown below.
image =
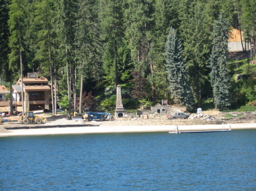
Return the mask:
{"type": "Polygon", "coordinates": [[[209,86],[209,67],[207,63],[210,57],[211,31],[209,15],[205,10],[205,3],[197,2],[191,8],[191,16],[185,23],[183,31],[184,58],[187,61],[189,82],[197,104],[201,104],[206,95],[211,92],[209,86]]]}

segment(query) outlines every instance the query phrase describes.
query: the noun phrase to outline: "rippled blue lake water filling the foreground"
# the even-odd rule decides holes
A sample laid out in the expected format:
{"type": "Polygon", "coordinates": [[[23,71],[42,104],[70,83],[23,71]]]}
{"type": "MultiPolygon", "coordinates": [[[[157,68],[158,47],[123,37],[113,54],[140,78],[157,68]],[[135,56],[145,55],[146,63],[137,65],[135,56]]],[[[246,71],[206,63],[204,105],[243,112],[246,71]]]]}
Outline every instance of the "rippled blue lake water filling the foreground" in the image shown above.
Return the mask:
{"type": "Polygon", "coordinates": [[[255,135],[0,137],[0,190],[256,190],[255,135]]]}

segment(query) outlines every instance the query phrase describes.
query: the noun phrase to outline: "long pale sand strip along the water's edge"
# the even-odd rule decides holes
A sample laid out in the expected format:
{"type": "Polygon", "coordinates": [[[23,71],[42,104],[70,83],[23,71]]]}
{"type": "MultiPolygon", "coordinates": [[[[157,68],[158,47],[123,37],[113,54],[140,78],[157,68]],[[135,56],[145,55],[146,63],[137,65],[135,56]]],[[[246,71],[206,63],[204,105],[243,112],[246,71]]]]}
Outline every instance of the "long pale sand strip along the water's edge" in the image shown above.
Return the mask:
{"type": "Polygon", "coordinates": [[[221,125],[123,125],[123,126],[81,126],[65,128],[11,129],[0,133],[0,137],[35,136],[35,135],[67,135],[67,134],[96,134],[96,133],[144,133],[167,132],[179,127],[186,130],[221,130],[221,129],[256,129],[256,123],[221,124],[221,125]]]}

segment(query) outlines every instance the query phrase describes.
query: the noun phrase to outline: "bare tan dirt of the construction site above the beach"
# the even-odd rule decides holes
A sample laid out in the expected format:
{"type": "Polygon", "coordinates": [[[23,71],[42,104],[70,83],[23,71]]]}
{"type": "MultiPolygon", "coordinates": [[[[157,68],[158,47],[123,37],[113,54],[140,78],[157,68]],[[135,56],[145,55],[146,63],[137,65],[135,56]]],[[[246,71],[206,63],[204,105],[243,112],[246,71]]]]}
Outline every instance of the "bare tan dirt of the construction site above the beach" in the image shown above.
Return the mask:
{"type": "MultiPolygon", "coordinates": [[[[214,117],[213,120],[201,120],[201,119],[176,119],[176,120],[168,120],[168,118],[150,118],[150,119],[144,119],[144,118],[113,118],[112,121],[105,120],[105,121],[88,121],[83,120],[82,124],[84,125],[106,125],[106,126],[121,126],[121,125],[208,125],[208,124],[238,124],[238,123],[255,123],[256,122],[256,116],[254,113],[243,113],[243,116],[241,117],[232,117],[232,118],[225,118],[226,113],[221,112],[212,112],[207,113],[211,114],[210,116],[214,117]]],[[[233,113],[234,115],[240,114],[237,112],[233,113]]],[[[51,115],[50,113],[36,113],[38,116],[42,116],[47,118],[48,122],[60,120],[62,118],[68,118],[67,115],[63,114],[57,114],[51,115]]],[[[3,118],[8,119],[8,122],[3,122],[2,127],[4,128],[15,128],[15,127],[22,127],[25,126],[21,122],[18,121],[18,116],[5,116],[3,118]]],[[[28,125],[26,125],[28,126],[28,125]]],[[[36,124],[29,124],[29,126],[44,126],[42,125],[36,125],[36,124]]]]}

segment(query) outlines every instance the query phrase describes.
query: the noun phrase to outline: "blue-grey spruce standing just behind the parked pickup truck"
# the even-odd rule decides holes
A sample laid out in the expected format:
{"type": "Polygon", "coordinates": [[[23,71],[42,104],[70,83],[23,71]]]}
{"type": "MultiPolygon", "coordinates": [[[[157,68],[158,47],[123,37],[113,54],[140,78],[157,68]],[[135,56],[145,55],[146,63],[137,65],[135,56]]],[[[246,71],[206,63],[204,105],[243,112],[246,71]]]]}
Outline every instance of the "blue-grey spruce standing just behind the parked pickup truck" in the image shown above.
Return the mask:
{"type": "Polygon", "coordinates": [[[167,79],[170,84],[171,95],[177,104],[182,104],[187,107],[188,111],[192,111],[195,100],[188,84],[185,62],[181,53],[181,42],[177,38],[175,29],[171,28],[166,42],[165,53],[167,79]]]}

